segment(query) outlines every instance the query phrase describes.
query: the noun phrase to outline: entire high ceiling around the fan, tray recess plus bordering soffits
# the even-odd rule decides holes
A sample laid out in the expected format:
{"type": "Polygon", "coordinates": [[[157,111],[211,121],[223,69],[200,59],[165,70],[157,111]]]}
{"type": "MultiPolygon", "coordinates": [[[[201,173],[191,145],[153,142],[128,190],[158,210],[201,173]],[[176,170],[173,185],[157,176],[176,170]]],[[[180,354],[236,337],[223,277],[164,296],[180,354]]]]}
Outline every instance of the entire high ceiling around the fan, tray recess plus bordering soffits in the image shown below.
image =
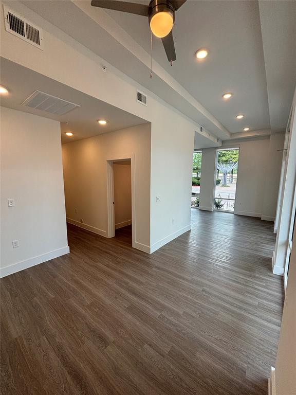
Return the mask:
{"type": "Polygon", "coordinates": [[[222,139],[245,126],[250,133],[286,127],[296,81],[293,0],[188,0],[173,29],[177,61],[171,67],[155,39],[152,80],[145,17],[86,0],[23,3],[222,139]],[[209,49],[202,62],[194,58],[200,47],[209,49]],[[224,101],[229,91],[233,98],[224,101]],[[238,113],[245,118],[237,121],[238,113]]]}

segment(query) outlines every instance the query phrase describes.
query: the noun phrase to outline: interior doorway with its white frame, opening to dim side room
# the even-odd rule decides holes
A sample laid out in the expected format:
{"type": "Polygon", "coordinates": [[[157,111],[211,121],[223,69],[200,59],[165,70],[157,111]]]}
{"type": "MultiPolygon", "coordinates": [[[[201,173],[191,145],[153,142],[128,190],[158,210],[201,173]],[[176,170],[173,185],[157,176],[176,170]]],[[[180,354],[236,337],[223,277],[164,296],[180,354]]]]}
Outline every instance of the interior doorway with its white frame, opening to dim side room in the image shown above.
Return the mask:
{"type": "Polygon", "coordinates": [[[107,159],[108,238],[134,246],[134,156],[107,159]]]}

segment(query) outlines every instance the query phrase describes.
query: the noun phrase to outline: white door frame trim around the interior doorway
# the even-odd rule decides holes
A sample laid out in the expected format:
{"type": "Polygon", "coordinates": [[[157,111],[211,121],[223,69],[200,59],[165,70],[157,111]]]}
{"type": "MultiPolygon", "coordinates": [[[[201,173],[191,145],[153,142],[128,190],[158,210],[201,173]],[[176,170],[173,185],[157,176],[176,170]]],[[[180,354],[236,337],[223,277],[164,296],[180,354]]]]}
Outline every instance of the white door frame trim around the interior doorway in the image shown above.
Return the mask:
{"type": "Polygon", "coordinates": [[[114,169],[113,163],[131,159],[132,178],[132,245],[135,246],[136,238],[136,205],[135,205],[135,154],[110,155],[105,159],[107,174],[107,237],[115,237],[115,210],[114,210],[114,169]]]}

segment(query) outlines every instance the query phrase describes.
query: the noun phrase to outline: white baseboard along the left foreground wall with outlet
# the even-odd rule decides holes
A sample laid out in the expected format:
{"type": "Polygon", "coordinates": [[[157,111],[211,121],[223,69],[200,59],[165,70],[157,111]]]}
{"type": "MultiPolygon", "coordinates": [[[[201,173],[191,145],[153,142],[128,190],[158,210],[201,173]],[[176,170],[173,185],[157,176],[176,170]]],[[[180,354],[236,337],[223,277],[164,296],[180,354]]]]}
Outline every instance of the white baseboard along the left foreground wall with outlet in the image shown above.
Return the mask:
{"type": "Polygon", "coordinates": [[[50,261],[51,259],[61,257],[62,255],[69,254],[69,246],[54,249],[49,253],[38,255],[33,258],[25,259],[24,261],[13,263],[12,265],[2,267],[0,269],[0,277],[9,276],[10,274],[20,272],[28,267],[39,265],[40,263],[50,261]]]}

